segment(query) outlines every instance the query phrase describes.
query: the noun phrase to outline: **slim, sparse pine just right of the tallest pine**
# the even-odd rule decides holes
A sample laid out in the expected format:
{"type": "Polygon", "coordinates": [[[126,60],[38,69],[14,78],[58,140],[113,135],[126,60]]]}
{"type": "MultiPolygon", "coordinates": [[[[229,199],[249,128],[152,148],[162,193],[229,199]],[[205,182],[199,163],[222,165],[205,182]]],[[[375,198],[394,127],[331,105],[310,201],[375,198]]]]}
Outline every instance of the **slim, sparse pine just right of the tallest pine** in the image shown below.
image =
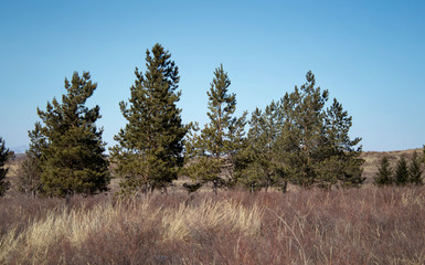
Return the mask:
{"type": "Polygon", "coordinates": [[[246,112],[236,118],[236,95],[229,93],[231,81],[223,65],[215,68],[209,96],[210,123],[193,135],[189,149],[192,163],[185,170],[198,182],[212,182],[214,193],[222,184],[234,183],[234,158],[242,149],[246,112]]]}

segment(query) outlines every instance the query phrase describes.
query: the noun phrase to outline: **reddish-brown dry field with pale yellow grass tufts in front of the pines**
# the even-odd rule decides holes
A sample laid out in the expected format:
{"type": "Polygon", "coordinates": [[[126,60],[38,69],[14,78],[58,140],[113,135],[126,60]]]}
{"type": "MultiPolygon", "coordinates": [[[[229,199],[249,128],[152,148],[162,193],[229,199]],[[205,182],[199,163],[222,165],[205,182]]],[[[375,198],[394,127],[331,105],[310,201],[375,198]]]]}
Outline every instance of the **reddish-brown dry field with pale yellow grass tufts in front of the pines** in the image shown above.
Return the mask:
{"type": "Polygon", "coordinates": [[[425,188],[0,199],[0,264],[425,264],[425,188]]]}

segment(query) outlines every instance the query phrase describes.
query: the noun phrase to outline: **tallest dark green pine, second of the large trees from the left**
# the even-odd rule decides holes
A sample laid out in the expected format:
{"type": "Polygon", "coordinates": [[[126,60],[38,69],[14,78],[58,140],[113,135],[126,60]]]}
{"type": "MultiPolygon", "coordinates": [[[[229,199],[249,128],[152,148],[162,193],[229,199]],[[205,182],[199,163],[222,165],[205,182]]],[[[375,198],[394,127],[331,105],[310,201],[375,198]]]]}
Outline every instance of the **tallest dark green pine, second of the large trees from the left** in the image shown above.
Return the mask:
{"type": "Polygon", "coordinates": [[[145,74],[136,67],[129,104],[119,104],[127,125],[114,137],[118,145],[110,149],[115,171],[125,178],[123,192],[166,189],[183,166],[182,125],[177,107],[181,92],[179,70],[171,54],[160,44],[146,52],[145,74]]]}

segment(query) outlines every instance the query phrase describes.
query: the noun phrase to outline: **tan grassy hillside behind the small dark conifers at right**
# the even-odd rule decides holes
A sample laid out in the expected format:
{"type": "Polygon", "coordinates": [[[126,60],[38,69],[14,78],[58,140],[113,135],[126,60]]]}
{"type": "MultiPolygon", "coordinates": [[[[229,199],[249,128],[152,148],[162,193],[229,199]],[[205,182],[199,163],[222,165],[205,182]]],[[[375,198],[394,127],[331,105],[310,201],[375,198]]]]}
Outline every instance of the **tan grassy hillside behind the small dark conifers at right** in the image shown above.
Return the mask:
{"type": "Polygon", "coordinates": [[[401,156],[405,156],[405,158],[411,159],[413,152],[417,151],[417,155],[423,156],[423,149],[408,149],[402,151],[365,151],[360,157],[364,159],[363,165],[363,177],[366,178],[366,183],[373,182],[373,177],[375,177],[378,172],[378,168],[380,166],[381,159],[386,156],[389,158],[391,167],[395,167],[399,158],[401,156]]]}

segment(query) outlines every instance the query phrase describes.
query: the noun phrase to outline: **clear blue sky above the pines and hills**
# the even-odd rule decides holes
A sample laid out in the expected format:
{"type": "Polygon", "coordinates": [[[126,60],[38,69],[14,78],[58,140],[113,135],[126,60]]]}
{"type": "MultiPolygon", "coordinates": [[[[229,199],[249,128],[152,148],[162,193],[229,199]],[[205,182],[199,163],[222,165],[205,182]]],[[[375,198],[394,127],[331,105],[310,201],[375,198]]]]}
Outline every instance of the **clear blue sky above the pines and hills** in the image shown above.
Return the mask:
{"type": "MultiPolygon", "coordinates": [[[[89,71],[104,140],[125,119],[135,67],[160,43],[180,70],[183,121],[206,119],[206,91],[223,63],[237,114],[264,108],[311,70],[353,117],[364,150],[425,144],[425,1],[0,2],[0,136],[28,145],[36,107],[65,77],[89,71]]],[[[331,100],[330,100],[331,102],[331,100]]]]}

